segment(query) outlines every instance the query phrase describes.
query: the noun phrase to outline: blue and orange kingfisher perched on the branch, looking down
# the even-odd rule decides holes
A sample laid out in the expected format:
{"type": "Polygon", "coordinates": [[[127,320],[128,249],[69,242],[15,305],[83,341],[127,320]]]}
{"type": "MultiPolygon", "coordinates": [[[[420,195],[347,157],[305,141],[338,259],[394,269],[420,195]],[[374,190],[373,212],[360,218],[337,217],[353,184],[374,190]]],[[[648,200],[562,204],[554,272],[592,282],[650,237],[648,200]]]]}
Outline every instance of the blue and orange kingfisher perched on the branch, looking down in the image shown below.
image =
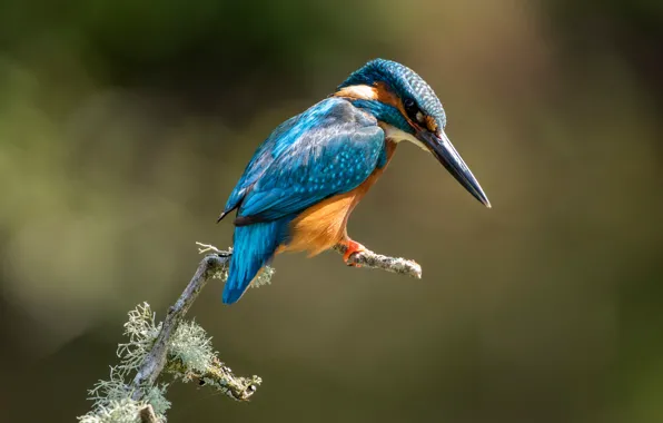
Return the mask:
{"type": "Polygon", "coordinates": [[[433,89],[396,61],[375,59],[336,91],[267,137],[246,166],[218,222],[236,210],[232,255],[222,293],[236,303],[276,254],[315,256],[339,244],[344,262],[365,247],[347,222],[397,146],[433,155],[478,201],[491,203],[445,134],[446,114],[433,89]]]}

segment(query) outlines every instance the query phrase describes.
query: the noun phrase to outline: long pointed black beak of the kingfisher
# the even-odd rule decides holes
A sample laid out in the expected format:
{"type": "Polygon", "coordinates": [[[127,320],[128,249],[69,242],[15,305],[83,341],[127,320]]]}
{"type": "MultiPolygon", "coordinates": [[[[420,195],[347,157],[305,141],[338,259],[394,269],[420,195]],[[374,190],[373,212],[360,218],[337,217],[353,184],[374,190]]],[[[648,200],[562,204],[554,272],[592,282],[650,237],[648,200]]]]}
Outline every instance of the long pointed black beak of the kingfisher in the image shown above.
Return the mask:
{"type": "Polygon", "coordinates": [[[478,180],[472,175],[472,171],[463,161],[463,158],[456,151],[452,141],[447,138],[444,131],[439,135],[433,134],[427,130],[422,130],[417,134],[417,138],[424,142],[426,147],[433,153],[433,155],[439,160],[439,163],[456,178],[465,189],[484,204],[484,206],[491,208],[491,201],[484,194],[478,180]]]}

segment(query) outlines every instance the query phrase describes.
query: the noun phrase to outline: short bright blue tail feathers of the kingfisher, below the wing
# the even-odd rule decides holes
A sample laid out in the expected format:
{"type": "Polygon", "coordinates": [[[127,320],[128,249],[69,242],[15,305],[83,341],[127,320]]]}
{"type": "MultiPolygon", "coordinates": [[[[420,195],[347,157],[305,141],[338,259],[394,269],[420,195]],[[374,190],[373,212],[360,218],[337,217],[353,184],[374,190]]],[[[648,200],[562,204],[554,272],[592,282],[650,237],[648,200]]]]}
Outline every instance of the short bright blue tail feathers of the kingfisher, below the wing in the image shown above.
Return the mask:
{"type": "Polygon", "coordinates": [[[236,303],[254,277],[271,260],[284,238],[286,219],[235,227],[232,257],[224,287],[224,303],[236,303]]]}

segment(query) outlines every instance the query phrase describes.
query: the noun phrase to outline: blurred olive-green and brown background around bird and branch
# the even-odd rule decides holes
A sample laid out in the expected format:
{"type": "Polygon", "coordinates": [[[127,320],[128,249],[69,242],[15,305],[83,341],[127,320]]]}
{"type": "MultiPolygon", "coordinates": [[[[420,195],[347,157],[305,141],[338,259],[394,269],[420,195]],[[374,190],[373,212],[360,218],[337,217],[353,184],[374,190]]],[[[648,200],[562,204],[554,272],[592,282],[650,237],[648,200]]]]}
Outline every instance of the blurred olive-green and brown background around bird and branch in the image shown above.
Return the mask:
{"type": "Polygon", "coordinates": [[[353,237],[423,281],[279,256],[190,316],[250,404],[169,422],[663,421],[663,3],[0,2],[0,420],[70,422],[126,312],[161,318],[259,142],[376,57],[415,69],[488,194],[399,148],[353,237]]]}

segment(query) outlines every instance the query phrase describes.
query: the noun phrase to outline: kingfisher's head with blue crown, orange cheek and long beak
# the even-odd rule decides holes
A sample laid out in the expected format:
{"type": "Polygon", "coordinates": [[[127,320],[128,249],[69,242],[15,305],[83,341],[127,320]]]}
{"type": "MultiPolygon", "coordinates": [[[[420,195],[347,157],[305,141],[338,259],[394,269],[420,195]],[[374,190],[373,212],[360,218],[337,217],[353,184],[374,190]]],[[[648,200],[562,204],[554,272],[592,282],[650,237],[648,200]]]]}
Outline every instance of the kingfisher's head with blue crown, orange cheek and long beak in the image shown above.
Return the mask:
{"type": "Polygon", "coordinates": [[[386,136],[429,151],[465,189],[486,207],[488,198],[456,151],[444,128],[446,115],[433,89],[412,69],[376,59],[353,72],[334,94],[374,115],[386,136]]]}

